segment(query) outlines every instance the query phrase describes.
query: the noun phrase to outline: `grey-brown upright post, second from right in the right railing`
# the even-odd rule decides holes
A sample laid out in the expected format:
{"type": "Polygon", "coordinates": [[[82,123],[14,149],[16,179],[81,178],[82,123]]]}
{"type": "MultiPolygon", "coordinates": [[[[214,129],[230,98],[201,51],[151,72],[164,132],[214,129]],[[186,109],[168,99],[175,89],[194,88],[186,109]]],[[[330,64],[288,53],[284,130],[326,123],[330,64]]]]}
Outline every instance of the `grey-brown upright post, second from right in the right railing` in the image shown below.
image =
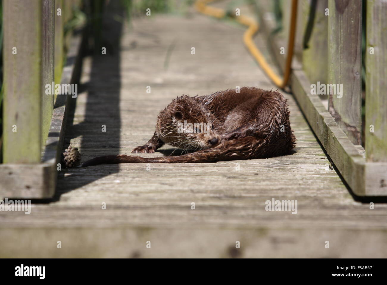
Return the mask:
{"type": "Polygon", "coordinates": [[[341,95],[329,88],[329,112],[351,142],[360,145],[361,1],[329,0],[328,8],[327,83],[342,86],[341,95]]]}

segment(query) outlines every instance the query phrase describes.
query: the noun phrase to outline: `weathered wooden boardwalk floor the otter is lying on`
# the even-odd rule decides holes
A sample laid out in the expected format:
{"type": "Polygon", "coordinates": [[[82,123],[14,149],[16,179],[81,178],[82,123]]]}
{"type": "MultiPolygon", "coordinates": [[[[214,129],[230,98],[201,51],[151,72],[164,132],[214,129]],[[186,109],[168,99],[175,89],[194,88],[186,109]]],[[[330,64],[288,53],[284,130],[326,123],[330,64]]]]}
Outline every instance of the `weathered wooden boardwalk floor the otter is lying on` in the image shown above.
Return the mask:
{"type": "MultiPolygon", "coordinates": [[[[243,31],[194,13],[115,22],[104,32],[117,44],[84,59],[65,147],[78,147],[82,162],[129,154],[151,138],[159,110],[178,95],[275,88],[243,46],[243,31]]],[[[265,41],[256,38],[263,50],[265,41]]],[[[29,215],[0,212],[1,257],[386,257],[387,204],[371,210],[356,202],[286,98],[294,154],[63,169],[55,201],[33,204],[29,215]],[[297,200],[297,214],[265,211],[272,198],[297,200]]]]}

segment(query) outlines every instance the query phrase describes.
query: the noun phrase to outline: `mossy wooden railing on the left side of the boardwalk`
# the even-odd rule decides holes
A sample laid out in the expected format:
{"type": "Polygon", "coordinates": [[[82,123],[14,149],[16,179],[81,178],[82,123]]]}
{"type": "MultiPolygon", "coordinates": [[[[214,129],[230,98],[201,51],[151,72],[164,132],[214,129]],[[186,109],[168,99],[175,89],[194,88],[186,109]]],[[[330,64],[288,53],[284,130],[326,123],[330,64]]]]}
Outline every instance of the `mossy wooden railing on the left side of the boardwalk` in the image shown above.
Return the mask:
{"type": "Polygon", "coordinates": [[[3,197],[53,196],[66,100],[46,94],[46,85],[73,83],[75,64],[66,60],[65,51],[72,52],[74,61],[78,49],[74,52],[64,25],[80,4],[80,0],[3,0],[3,197]],[[62,103],[55,104],[59,99],[62,103]]]}

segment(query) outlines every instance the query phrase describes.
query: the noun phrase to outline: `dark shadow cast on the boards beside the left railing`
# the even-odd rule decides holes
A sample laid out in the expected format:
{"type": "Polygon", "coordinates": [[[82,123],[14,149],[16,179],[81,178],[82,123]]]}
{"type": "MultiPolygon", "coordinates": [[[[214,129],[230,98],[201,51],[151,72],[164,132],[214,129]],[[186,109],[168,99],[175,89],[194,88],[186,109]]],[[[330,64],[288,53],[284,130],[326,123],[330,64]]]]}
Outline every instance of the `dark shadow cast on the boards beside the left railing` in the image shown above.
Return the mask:
{"type": "MultiPolygon", "coordinates": [[[[92,57],[89,81],[81,85],[79,93],[87,93],[86,109],[83,120],[77,118],[75,106],[67,120],[67,130],[63,151],[73,138],[81,136],[80,148],[95,148],[96,154],[100,148],[110,150],[110,154],[119,154],[120,150],[120,40],[122,36],[123,10],[118,1],[110,1],[106,6],[103,19],[102,45],[106,47],[106,55],[96,47],[92,57]],[[106,131],[102,131],[106,126],[106,131]],[[99,129],[99,131],[98,131],[99,129]]],[[[92,52],[89,50],[89,52],[92,52]]],[[[85,95],[83,95],[85,96],[85,95]]],[[[84,176],[83,185],[99,178],[118,172],[118,166],[112,165],[105,171],[94,176],[84,176]]],[[[59,174],[60,178],[65,172],[59,174]]],[[[76,187],[78,188],[79,184],[76,187]]],[[[72,187],[57,187],[54,200],[59,200],[63,193],[74,190],[72,187]]]]}

